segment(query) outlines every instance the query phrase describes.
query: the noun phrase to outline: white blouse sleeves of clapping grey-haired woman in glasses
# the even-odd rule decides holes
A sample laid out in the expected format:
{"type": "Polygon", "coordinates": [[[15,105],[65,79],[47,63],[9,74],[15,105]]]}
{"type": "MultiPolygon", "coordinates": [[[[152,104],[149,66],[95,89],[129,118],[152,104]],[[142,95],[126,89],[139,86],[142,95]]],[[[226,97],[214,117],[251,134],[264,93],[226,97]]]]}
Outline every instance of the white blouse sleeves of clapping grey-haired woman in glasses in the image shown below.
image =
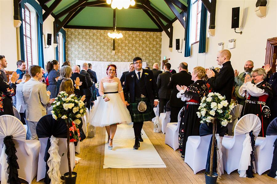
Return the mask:
{"type": "MultiPolygon", "coordinates": [[[[261,82],[263,82],[263,81],[261,81],[261,82]]],[[[252,84],[251,82],[243,83],[243,85],[240,86],[240,88],[239,88],[239,95],[244,97],[245,91],[247,91],[247,93],[249,93],[253,97],[259,97],[264,94],[267,94],[264,92],[264,90],[257,87],[257,85],[261,82],[258,82],[257,84],[252,84]]]]}

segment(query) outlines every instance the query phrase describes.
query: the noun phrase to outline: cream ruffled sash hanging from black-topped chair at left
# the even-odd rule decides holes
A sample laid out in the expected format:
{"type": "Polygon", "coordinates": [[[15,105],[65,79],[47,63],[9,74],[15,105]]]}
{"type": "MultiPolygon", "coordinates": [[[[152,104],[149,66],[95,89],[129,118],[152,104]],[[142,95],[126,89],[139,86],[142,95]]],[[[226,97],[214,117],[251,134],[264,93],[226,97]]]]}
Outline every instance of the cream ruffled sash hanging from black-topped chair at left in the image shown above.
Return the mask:
{"type": "Polygon", "coordinates": [[[59,155],[59,146],[58,142],[59,139],[51,136],[50,137],[51,146],[48,150],[48,153],[50,155],[47,165],[49,167],[49,170],[47,171],[47,174],[49,178],[51,179],[50,184],[60,183],[61,181],[61,173],[60,173],[60,164],[61,164],[61,156],[59,155]]]}

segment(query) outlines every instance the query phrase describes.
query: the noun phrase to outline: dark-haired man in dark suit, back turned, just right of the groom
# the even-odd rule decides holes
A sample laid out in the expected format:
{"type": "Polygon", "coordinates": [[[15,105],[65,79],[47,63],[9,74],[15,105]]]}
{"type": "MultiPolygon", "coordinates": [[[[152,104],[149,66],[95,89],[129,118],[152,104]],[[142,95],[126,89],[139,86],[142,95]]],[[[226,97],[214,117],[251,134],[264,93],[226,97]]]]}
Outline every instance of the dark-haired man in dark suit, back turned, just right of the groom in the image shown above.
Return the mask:
{"type": "Polygon", "coordinates": [[[165,106],[170,99],[171,89],[167,87],[171,73],[169,72],[171,68],[170,63],[165,63],[163,66],[164,73],[158,75],[157,86],[159,90],[159,115],[164,112],[165,106]]]}

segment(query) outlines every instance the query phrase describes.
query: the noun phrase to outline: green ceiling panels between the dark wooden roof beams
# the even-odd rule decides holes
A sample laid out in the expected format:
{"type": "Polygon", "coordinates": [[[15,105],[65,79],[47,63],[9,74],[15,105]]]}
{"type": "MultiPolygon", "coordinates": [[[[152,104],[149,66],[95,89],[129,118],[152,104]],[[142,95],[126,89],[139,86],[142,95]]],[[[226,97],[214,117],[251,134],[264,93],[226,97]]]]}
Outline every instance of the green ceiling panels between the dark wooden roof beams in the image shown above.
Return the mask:
{"type": "MultiPolygon", "coordinates": [[[[89,0],[91,2],[94,0],[89,0]]],[[[136,0],[135,0],[136,1],[136,0]]],[[[170,8],[164,2],[164,0],[149,0],[151,6],[153,6],[156,10],[161,12],[170,20],[175,18],[175,15],[172,13],[170,8]]],[[[187,0],[179,0],[185,6],[187,6],[187,0]]],[[[50,5],[54,2],[51,0],[46,4],[46,6],[50,7],[50,5]]],[[[74,3],[78,2],[78,0],[62,0],[58,6],[53,10],[53,13],[57,15],[62,12],[66,8],[70,7],[74,3]]],[[[105,1],[104,1],[105,2],[105,1]]],[[[136,2],[137,4],[140,4],[136,2]]],[[[175,8],[180,13],[181,10],[175,6],[175,8]]],[[[62,21],[66,15],[59,18],[62,21]]],[[[125,27],[125,28],[150,28],[150,29],[158,29],[157,25],[147,16],[147,14],[142,9],[116,9],[116,26],[117,27],[125,27]]],[[[162,20],[164,25],[167,23],[162,20]]],[[[67,25],[74,26],[98,26],[98,27],[112,27],[113,26],[113,9],[107,7],[95,7],[95,6],[87,6],[80,13],[77,14],[67,25]]]]}

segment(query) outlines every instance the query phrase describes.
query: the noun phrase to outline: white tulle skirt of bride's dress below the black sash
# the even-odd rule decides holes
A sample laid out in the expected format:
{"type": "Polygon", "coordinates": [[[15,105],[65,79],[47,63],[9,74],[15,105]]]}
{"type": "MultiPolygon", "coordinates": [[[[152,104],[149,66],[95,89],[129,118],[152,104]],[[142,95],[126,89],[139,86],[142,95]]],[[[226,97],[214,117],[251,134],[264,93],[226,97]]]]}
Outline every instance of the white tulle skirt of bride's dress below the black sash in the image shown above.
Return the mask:
{"type": "Polygon", "coordinates": [[[119,93],[106,94],[110,101],[105,102],[99,98],[99,102],[93,107],[89,120],[90,125],[104,127],[113,124],[130,124],[131,116],[125,107],[119,93]]]}

